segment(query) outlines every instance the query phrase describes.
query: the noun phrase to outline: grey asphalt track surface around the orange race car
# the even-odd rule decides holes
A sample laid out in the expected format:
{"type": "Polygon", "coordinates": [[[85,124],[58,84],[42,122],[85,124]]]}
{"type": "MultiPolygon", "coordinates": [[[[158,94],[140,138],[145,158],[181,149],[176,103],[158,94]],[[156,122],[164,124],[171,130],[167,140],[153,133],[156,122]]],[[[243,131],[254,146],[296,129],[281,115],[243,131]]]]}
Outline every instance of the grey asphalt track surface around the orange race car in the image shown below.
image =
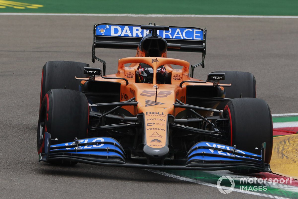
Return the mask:
{"type": "MultiPolygon", "coordinates": [[[[207,28],[206,79],[216,70],[252,72],[272,113],[298,112],[298,19],[0,16],[0,198],[262,198],[180,181],[142,169],[38,163],[41,70],[46,61],[91,62],[93,22],[207,28]]],[[[97,50],[107,73],[132,50],[97,50]]],[[[191,64],[196,53],[169,53],[191,64]]]]}

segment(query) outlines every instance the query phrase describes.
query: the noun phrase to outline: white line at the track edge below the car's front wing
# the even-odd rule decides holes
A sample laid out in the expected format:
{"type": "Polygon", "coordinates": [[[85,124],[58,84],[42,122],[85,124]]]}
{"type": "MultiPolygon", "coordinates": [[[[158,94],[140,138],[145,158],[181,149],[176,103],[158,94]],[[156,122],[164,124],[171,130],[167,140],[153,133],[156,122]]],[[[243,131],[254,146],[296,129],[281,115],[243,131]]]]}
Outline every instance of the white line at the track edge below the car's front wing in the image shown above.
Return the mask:
{"type": "MultiPolygon", "coordinates": [[[[212,186],[212,187],[216,187],[216,184],[211,184],[211,183],[207,183],[207,182],[202,182],[196,179],[192,179],[192,178],[186,178],[186,177],[182,177],[179,175],[174,175],[174,174],[170,174],[170,173],[166,173],[163,171],[159,171],[159,170],[149,170],[149,169],[145,169],[147,171],[159,174],[159,175],[164,175],[170,178],[176,178],[178,180],[183,180],[183,181],[187,181],[187,182],[192,182],[192,183],[197,183],[197,184],[201,184],[201,185],[205,185],[205,186],[212,186]]],[[[226,187],[226,186],[221,186],[225,189],[229,189],[230,187],[226,187]]],[[[240,190],[240,189],[234,189],[233,192],[240,192],[240,193],[246,193],[246,194],[251,194],[251,195],[257,195],[257,196],[263,196],[263,197],[268,197],[268,198],[277,198],[277,199],[286,199],[283,197],[279,197],[279,196],[274,196],[274,195],[267,195],[267,194],[261,194],[261,193],[256,193],[256,192],[249,192],[249,191],[245,191],[245,190],[240,190]]]]}

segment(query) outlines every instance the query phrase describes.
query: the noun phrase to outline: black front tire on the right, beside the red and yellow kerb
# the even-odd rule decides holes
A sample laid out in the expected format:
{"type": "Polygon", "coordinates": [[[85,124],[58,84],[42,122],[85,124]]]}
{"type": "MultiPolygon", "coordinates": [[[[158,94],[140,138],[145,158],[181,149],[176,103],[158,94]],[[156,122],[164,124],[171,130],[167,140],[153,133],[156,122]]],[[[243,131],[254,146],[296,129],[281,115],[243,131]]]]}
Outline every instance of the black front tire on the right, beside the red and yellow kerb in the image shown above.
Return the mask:
{"type": "MultiPolygon", "coordinates": [[[[230,145],[239,150],[258,154],[266,142],[265,163],[270,163],[273,143],[271,111],[266,101],[257,98],[235,98],[224,108],[224,117],[229,118],[230,145]]],[[[234,169],[235,173],[256,173],[253,169],[234,169]]]]}

